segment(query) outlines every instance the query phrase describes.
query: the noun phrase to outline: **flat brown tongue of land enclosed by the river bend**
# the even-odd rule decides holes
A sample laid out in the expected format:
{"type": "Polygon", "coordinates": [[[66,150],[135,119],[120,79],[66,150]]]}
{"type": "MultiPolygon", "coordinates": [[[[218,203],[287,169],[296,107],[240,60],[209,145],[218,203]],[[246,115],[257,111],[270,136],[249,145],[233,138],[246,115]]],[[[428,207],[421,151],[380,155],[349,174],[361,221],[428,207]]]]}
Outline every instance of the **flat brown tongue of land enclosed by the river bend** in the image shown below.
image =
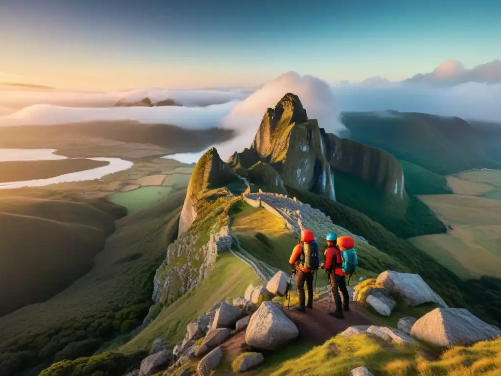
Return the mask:
{"type": "Polygon", "coordinates": [[[0,183],[47,179],[108,164],[106,161],[85,158],[0,162],[0,183]]]}

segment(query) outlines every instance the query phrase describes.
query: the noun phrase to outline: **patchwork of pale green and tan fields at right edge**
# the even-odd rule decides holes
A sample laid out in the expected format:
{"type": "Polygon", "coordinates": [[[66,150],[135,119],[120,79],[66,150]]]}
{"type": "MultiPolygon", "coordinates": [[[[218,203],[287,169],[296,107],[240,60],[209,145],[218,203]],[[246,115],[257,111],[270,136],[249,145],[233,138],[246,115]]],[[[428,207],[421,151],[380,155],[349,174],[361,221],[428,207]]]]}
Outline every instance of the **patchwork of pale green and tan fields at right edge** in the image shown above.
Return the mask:
{"type": "Polygon", "coordinates": [[[447,177],[454,195],[420,199],[448,227],[447,234],[409,239],[462,278],[501,277],[501,171],[447,177]]]}

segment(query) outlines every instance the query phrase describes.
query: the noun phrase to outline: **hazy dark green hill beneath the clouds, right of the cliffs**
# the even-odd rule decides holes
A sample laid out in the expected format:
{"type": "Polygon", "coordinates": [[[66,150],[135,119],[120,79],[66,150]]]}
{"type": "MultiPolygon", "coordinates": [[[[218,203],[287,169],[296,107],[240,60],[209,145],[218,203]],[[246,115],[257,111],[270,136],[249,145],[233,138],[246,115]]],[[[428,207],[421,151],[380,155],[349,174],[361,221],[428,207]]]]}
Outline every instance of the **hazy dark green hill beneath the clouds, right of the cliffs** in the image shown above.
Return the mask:
{"type": "Polygon", "coordinates": [[[485,147],[485,137],[457,117],[397,111],[381,116],[360,112],[344,113],[342,121],[349,129],[349,138],[386,150],[398,159],[440,175],[499,166],[485,147]]]}

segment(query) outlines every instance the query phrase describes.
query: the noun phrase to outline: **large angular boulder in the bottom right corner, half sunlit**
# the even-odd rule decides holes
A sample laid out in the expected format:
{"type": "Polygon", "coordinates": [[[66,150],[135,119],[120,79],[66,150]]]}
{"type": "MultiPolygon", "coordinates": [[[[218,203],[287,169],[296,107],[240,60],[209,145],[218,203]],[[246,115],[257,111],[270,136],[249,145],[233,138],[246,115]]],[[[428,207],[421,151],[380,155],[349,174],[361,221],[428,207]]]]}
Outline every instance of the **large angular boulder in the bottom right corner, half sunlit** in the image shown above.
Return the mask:
{"type": "Polygon", "coordinates": [[[501,335],[464,308],[435,308],[412,325],[412,336],[437,346],[469,345],[501,335]]]}

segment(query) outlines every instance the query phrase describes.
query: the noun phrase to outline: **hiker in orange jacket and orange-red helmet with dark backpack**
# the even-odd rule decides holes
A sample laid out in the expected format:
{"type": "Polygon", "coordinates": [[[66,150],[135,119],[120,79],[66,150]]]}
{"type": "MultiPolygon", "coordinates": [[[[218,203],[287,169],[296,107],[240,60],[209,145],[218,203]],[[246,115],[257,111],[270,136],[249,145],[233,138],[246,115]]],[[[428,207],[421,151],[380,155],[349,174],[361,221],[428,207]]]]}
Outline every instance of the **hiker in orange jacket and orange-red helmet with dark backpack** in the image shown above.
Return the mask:
{"type": "Polygon", "coordinates": [[[298,289],[299,307],[294,309],[305,312],[305,282],[308,286],[308,305],[313,308],[313,277],[320,264],[318,244],[315,236],[310,230],[301,231],[300,243],[294,247],[289,263],[292,265],[293,273],[296,273],[296,288],[298,289]]]}

